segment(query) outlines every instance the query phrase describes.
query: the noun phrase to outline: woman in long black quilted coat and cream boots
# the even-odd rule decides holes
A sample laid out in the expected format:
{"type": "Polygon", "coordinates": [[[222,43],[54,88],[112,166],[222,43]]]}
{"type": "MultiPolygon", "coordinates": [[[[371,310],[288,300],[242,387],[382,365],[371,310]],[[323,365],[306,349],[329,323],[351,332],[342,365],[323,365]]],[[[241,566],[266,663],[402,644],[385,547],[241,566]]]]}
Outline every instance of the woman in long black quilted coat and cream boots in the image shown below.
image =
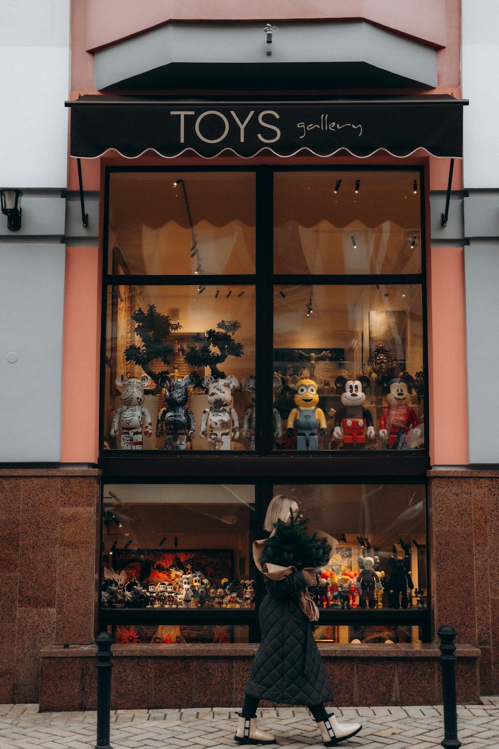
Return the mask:
{"type": "MultiPolygon", "coordinates": [[[[290,523],[292,513],[295,517],[299,514],[296,502],[284,494],[278,494],[269,504],[264,530],[272,536],[277,521],[290,523]]],[[[328,540],[334,542],[336,548],[337,542],[328,540]]],[[[265,542],[254,543],[254,559],[260,569],[260,556],[264,548],[265,542]]],[[[265,576],[267,595],[263,598],[259,615],[262,641],[245,685],[245,701],[239,713],[234,739],[244,744],[275,742],[275,736],[261,730],[256,721],[259,701],[270,700],[307,706],[319,726],[324,745],[334,746],[355,736],[362,727],[358,723],[340,724],[334,715],[325,710],[324,703],[334,697],[313,639],[310,620],[313,614],[310,613],[311,601],[307,595],[307,589],[317,585],[317,575],[307,569],[291,571],[290,568],[284,573],[285,577],[282,574],[281,579],[271,579],[279,577],[279,574],[265,576]],[[307,610],[308,616],[304,610],[307,610]]]]}

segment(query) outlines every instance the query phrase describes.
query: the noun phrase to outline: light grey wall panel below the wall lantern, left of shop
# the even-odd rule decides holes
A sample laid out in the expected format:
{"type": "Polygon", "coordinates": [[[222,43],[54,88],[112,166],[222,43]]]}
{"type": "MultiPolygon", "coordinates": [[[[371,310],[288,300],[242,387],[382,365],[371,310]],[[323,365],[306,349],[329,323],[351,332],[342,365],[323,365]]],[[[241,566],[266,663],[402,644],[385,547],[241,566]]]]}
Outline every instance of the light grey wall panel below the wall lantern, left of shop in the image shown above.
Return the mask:
{"type": "Polygon", "coordinates": [[[0,244],[0,462],[61,460],[65,252],[0,244]]]}

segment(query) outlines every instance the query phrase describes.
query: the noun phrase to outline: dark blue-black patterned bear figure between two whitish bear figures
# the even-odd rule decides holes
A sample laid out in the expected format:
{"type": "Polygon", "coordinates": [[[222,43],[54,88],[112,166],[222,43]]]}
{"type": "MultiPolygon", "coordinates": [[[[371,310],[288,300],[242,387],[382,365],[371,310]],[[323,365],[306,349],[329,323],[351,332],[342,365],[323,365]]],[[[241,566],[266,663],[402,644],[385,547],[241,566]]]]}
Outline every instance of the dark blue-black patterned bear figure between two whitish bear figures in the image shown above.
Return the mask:
{"type": "Polygon", "coordinates": [[[158,414],[156,422],[156,437],[162,437],[165,425],[165,450],[173,450],[177,443],[177,450],[187,449],[187,438],[192,440],[196,433],[194,413],[187,406],[189,387],[195,386],[199,377],[191,372],[186,377],[162,375],[159,384],[165,388],[165,408],[158,414]]]}

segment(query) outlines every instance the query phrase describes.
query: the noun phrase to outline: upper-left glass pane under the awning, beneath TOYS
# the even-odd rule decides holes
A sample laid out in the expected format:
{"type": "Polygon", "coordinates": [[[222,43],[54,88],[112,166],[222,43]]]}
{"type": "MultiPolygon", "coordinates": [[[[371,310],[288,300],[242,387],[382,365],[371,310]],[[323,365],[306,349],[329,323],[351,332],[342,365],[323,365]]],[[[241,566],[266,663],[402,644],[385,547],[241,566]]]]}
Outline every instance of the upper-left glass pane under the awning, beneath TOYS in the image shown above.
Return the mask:
{"type": "Polygon", "coordinates": [[[108,273],[254,273],[251,172],[111,172],[108,273]]]}

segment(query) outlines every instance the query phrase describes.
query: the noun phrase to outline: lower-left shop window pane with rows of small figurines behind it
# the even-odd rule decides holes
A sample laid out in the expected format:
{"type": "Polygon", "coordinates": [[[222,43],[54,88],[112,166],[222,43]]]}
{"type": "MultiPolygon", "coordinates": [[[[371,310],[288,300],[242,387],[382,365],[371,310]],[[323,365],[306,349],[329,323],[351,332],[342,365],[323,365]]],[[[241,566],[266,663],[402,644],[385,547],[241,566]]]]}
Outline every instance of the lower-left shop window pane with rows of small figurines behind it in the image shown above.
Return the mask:
{"type": "MultiPolygon", "coordinates": [[[[253,486],[106,484],[103,506],[102,607],[164,613],[154,622],[165,626],[163,640],[186,641],[195,632],[171,630],[180,622],[168,613],[254,608],[253,486]]],[[[139,633],[141,642],[149,634],[139,633]]],[[[221,629],[205,636],[215,634],[218,642],[235,641],[221,629]]]]}

